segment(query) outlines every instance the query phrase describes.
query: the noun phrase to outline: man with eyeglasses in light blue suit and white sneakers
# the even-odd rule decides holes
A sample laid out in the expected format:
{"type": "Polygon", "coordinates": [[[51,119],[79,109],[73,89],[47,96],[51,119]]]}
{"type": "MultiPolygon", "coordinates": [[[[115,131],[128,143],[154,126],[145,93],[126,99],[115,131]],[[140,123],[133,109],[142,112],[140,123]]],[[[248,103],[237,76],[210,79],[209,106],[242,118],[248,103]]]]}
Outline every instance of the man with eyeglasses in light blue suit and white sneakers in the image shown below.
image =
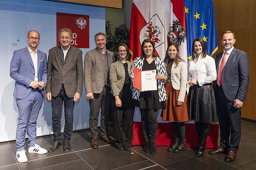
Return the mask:
{"type": "Polygon", "coordinates": [[[47,56],[37,49],[40,35],[31,30],[27,35],[28,46],[16,50],[10,64],[10,76],[15,79],[13,97],[16,98],[19,117],[16,130],[16,158],[27,162],[25,136],[28,135],[28,152],[44,154],[47,150],[36,144],[36,120],[45,96],[47,56]]]}

